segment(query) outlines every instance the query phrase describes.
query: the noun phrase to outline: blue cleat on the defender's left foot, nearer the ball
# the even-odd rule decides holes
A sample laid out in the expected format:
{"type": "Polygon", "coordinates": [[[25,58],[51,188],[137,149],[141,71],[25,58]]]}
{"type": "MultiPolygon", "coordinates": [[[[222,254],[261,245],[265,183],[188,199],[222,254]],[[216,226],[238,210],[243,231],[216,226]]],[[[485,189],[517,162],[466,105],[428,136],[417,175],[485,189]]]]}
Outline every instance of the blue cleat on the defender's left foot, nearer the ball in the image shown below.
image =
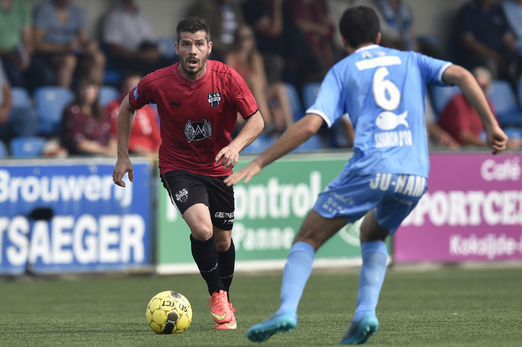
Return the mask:
{"type": "Polygon", "coordinates": [[[261,323],[253,325],[246,331],[246,337],[252,342],[263,342],[276,332],[292,331],[297,325],[297,314],[294,311],[276,312],[261,323]]]}

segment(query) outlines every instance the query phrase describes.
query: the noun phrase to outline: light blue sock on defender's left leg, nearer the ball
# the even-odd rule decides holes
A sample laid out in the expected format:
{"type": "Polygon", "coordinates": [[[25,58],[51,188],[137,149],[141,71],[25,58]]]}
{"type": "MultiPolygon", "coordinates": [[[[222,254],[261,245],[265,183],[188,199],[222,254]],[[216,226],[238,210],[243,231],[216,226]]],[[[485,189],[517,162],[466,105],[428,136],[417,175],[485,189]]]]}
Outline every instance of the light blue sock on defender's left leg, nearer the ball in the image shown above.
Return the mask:
{"type": "Polygon", "coordinates": [[[293,244],[288,254],[287,265],[284,266],[281,307],[277,312],[297,312],[304,286],[312,272],[314,256],[315,250],[310,243],[300,241],[293,244]]]}

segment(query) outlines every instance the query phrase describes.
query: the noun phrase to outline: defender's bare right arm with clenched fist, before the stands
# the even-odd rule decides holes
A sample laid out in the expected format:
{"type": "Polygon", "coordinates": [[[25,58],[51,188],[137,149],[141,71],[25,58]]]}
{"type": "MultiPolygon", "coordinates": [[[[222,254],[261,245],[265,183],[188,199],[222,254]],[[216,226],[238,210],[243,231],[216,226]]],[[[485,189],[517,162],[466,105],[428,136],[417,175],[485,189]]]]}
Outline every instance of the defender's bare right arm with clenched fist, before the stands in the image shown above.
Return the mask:
{"type": "Polygon", "coordinates": [[[482,89],[471,72],[461,66],[452,65],[444,71],[442,80],[448,84],[458,85],[471,106],[477,110],[486,132],[488,146],[493,150],[492,153],[497,154],[504,151],[507,135],[497,123],[482,89]]]}

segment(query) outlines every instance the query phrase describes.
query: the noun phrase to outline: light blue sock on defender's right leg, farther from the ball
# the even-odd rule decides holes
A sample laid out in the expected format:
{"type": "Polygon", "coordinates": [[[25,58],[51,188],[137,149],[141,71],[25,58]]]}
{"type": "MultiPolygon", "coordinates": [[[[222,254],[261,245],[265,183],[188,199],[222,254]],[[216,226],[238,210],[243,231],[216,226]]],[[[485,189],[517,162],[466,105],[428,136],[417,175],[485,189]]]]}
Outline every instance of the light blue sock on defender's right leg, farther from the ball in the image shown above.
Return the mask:
{"type": "Polygon", "coordinates": [[[361,246],[362,267],[357,293],[357,308],[353,320],[359,320],[366,311],[375,311],[383,287],[388,249],[382,241],[366,241],[361,246]]]}

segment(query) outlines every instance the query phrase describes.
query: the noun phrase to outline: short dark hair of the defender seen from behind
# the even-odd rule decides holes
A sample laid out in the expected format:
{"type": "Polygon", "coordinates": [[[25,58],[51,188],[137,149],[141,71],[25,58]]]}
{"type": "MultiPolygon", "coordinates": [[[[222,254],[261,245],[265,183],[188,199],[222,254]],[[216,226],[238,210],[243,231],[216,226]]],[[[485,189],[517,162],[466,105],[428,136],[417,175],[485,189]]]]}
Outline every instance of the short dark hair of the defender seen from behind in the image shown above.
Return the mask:
{"type": "Polygon", "coordinates": [[[355,6],[342,14],[339,31],[352,48],[357,48],[364,43],[376,43],[381,23],[373,8],[355,6]]]}

